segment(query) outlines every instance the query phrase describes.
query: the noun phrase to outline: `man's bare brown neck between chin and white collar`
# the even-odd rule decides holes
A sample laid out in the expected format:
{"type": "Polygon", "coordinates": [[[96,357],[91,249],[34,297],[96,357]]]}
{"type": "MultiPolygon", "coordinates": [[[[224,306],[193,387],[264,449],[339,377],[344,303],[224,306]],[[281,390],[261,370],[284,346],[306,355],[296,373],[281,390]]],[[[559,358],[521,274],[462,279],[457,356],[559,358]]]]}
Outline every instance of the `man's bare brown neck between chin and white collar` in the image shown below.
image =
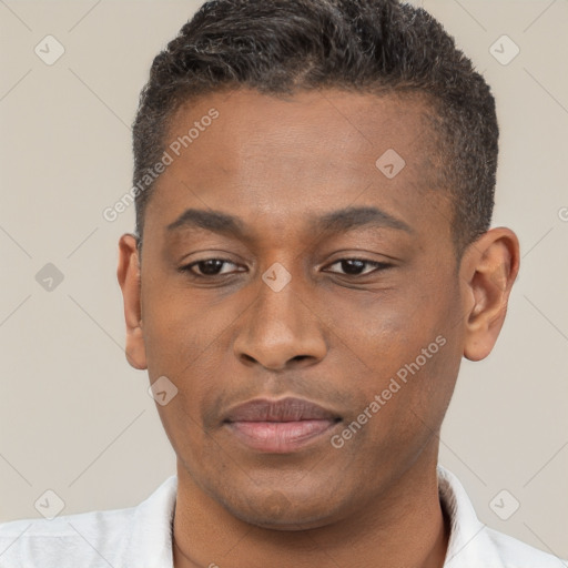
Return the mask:
{"type": "Polygon", "coordinates": [[[438,497],[434,462],[423,454],[365,510],[308,530],[273,530],[240,520],[199,488],[178,465],[175,568],[442,568],[449,523],[438,497]],[[425,462],[429,462],[425,467],[425,462]]]}

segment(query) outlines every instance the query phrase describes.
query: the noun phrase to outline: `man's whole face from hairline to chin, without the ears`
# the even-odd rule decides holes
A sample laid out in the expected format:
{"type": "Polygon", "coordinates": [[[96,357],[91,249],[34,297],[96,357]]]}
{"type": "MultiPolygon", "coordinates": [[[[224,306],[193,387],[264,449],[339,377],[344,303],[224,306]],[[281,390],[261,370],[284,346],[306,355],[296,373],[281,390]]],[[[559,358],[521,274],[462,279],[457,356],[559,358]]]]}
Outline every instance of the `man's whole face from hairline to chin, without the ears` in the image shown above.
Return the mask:
{"type": "Polygon", "coordinates": [[[159,410],[180,484],[241,519],[322,526],[436,463],[464,332],[427,112],[244,90],[174,115],[166,149],[201,128],[145,213],[139,366],[179,389],[159,410]],[[324,410],[235,410],[288,397],[324,410]]]}

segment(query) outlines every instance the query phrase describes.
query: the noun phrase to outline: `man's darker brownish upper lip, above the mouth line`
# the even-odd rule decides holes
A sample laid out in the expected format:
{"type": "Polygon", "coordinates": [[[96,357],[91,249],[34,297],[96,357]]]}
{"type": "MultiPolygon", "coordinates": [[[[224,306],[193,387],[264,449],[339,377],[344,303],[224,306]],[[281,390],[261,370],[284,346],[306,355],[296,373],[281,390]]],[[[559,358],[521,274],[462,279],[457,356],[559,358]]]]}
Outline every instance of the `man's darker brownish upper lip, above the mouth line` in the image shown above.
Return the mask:
{"type": "Polygon", "coordinates": [[[338,414],[305,398],[255,398],[232,408],[224,422],[338,420],[338,414]]]}

